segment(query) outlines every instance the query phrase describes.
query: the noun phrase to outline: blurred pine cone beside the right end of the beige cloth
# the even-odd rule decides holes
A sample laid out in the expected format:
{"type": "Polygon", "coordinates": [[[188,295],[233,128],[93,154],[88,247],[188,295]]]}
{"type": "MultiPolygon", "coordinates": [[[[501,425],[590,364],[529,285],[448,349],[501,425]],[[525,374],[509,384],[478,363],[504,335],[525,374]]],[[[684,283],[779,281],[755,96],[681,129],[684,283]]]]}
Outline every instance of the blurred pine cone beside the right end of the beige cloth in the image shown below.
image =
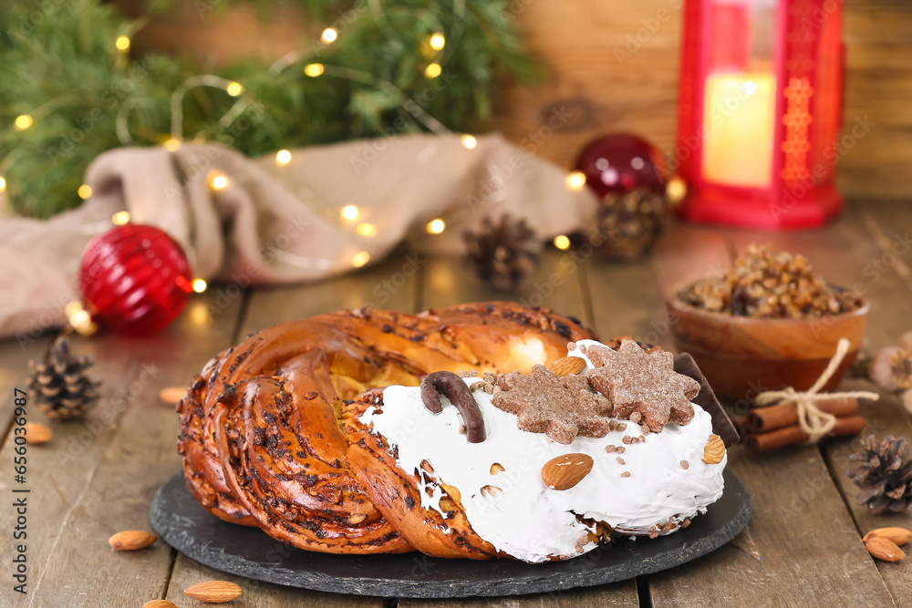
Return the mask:
{"type": "Polygon", "coordinates": [[[468,251],[466,260],[495,291],[512,291],[538,265],[541,243],[523,220],[513,222],[509,215],[503,215],[495,224],[485,217],[478,232],[466,231],[462,236],[468,251]]]}

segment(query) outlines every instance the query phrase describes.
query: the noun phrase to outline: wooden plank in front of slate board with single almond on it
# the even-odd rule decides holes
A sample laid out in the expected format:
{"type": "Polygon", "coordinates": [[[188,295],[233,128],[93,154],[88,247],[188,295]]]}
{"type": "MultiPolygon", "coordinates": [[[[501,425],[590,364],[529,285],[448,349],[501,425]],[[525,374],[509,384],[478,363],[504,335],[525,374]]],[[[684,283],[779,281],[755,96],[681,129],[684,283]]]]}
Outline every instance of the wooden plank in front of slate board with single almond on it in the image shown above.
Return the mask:
{"type": "MultiPolygon", "coordinates": [[[[278,543],[276,543],[278,544],[278,543]]],[[[284,587],[270,582],[254,581],[243,576],[234,576],[213,570],[199,562],[193,562],[182,554],[174,562],[174,573],[168,585],[167,600],[179,606],[202,606],[183,592],[197,582],[230,581],[241,587],[244,593],[228,605],[243,605],[244,608],[381,608],[384,601],[379,598],[320,593],[306,589],[284,587]]]]}

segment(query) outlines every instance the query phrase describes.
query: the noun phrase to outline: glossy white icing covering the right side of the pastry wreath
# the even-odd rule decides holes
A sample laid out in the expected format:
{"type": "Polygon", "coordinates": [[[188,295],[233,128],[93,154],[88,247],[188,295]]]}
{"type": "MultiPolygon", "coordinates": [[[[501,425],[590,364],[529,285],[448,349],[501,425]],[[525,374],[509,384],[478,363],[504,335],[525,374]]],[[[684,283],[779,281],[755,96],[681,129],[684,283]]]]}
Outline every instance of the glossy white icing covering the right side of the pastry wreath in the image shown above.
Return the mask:
{"type": "MultiPolygon", "coordinates": [[[[583,340],[576,344],[569,355],[581,356],[586,368],[591,368],[578,346],[599,343],[583,340]]],[[[469,386],[480,381],[465,378],[469,386]]],[[[677,530],[677,524],[705,512],[722,495],[722,469],[728,455],[716,465],[702,461],[712,425],[710,415],[700,406],[694,405],[694,417],[687,426],[668,424],[661,433],[646,435],[642,443],[625,444],[625,436],[639,437],[639,425],[617,420],[627,428],[604,438],[577,437],[565,446],[544,434],[520,430],[516,416],[494,407],[491,395],[481,390],[473,394],[487,434],[482,443],[469,443],[460,434],[462,421],[455,407],[432,414],[417,386],[385,388],[382,412],[368,407],[360,420],[398,448],[398,464],[406,472],[420,469],[421,461],[427,459],[434,469],[432,478],[459,489],[472,530],[515,558],[544,562],[595,549],[595,542],[579,544],[581,536],[594,530],[576,515],[603,521],[616,531],[648,534],[650,528],[658,530],[668,520],[675,524],[672,530],[677,530]],[[625,449],[622,454],[609,453],[608,445],[625,449]],[[541,477],[544,463],[572,453],[591,456],[592,471],[572,489],[547,488],[541,477]],[[687,461],[688,469],[682,467],[682,460],[687,461]],[[504,470],[492,475],[494,462],[504,470]],[[625,471],[629,477],[621,477],[625,471]],[[488,485],[503,491],[482,492],[488,485]]],[[[445,397],[440,401],[449,405],[445,397]]],[[[425,492],[424,482],[420,483],[421,506],[446,517],[439,505],[442,490],[436,483],[429,487],[432,496],[425,492]]]]}

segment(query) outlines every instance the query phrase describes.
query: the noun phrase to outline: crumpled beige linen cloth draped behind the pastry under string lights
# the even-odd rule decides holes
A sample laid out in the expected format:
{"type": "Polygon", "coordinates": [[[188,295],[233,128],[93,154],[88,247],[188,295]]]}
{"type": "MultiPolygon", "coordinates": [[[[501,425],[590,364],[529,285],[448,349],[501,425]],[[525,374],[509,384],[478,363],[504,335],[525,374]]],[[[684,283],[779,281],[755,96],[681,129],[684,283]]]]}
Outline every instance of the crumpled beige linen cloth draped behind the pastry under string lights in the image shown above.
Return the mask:
{"type": "Polygon", "coordinates": [[[171,234],[195,277],[277,284],[353,271],[361,252],[378,262],[403,238],[424,251],[461,252],[461,233],[485,215],[522,217],[547,239],[584,227],[596,205],[586,189],[567,189],[565,170],[496,134],[473,149],[458,136],[414,135],[291,155],[280,165],[275,155],[252,160],[214,143],[101,155],[86,175],[92,196],[78,209],[0,221],[0,336],[27,339],[66,323],[82,251],[118,211],[171,234]],[[223,190],[212,188],[216,175],[228,180],[223,190]],[[354,222],[340,215],[347,205],[358,208],[354,222]],[[445,232],[421,230],[435,218],[445,232]]]}

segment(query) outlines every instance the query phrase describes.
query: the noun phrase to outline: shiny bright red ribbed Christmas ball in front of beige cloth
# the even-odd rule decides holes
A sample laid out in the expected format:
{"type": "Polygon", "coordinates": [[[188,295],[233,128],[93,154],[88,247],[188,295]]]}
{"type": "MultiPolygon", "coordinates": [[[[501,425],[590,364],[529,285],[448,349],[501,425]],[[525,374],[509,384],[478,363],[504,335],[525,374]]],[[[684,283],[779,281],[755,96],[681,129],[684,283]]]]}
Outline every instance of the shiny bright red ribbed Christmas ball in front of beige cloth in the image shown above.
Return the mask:
{"type": "Polygon", "coordinates": [[[158,228],[130,223],[88,242],[79,284],[92,321],[124,335],[161,331],[192,291],[181,245],[158,228]]]}

